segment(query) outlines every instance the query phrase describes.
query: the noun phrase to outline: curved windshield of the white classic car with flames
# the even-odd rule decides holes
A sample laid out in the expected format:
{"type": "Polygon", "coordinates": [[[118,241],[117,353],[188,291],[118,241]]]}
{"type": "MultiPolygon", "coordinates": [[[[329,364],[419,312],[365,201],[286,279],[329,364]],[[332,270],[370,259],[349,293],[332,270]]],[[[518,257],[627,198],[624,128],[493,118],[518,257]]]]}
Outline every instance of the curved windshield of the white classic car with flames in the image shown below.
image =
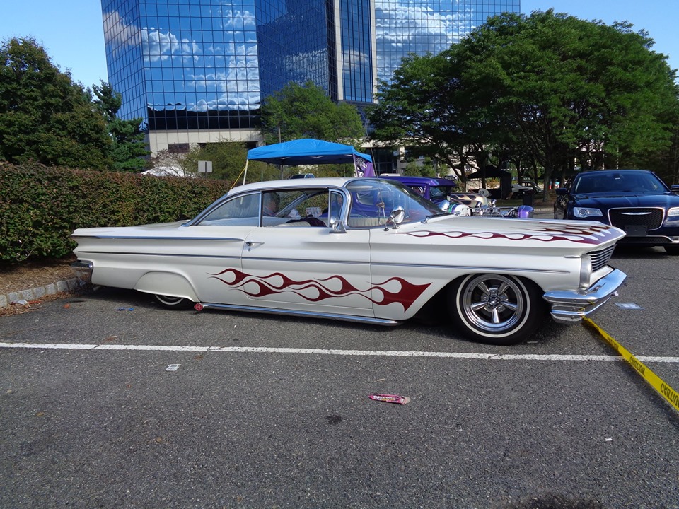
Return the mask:
{"type": "Polygon", "coordinates": [[[347,191],[352,195],[348,225],[354,228],[384,225],[397,207],[405,211],[403,223],[422,221],[427,216],[441,213],[434,203],[400,182],[353,180],[347,184],[347,191]]]}

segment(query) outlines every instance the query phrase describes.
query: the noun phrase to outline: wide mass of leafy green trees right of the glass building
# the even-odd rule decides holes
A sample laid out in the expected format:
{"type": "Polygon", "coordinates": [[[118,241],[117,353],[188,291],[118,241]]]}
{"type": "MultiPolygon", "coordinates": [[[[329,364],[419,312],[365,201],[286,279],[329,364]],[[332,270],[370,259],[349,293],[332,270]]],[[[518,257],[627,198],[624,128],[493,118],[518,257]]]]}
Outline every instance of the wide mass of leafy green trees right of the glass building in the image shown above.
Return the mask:
{"type": "Polygon", "coordinates": [[[547,182],[576,161],[598,168],[646,167],[658,153],[668,160],[678,90],[652,45],[629,23],[552,10],[490,18],[446,52],[404,59],[393,81],[381,83],[370,113],[375,137],[429,145],[458,175],[470,157],[483,165],[493,153],[501,166],[534,160],[547,182]]]}

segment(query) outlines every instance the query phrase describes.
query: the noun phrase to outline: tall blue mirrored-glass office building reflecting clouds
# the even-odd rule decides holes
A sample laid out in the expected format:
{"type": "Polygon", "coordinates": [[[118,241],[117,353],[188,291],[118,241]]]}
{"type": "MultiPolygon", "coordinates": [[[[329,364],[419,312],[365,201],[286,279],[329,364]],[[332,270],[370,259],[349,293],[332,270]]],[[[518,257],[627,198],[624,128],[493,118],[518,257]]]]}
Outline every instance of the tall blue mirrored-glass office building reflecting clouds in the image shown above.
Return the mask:
{"type": "Polygon", "coordinates": [[[257,141],[262,98],[313,81],[372,103],[409,52],[438,53],[520,0],[102,0],[108,81],[151,150],[257,141]]]}

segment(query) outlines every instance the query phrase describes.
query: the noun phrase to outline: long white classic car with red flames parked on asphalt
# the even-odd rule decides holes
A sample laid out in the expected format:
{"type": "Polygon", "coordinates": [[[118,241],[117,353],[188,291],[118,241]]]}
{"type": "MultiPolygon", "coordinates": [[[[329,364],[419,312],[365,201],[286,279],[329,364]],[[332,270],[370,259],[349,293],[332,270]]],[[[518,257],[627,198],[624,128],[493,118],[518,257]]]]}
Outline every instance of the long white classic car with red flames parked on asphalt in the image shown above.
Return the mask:
{"type": "Polygon", "coordinates": [[[602,223],[451,216],[398,182],[315,178],[232,189],[192,221],[75,230],[76,266],[166,308],[392,325],[435,306],[455,333],[514,344],[550,312],[579,322],[625,274],[602,223]]]}

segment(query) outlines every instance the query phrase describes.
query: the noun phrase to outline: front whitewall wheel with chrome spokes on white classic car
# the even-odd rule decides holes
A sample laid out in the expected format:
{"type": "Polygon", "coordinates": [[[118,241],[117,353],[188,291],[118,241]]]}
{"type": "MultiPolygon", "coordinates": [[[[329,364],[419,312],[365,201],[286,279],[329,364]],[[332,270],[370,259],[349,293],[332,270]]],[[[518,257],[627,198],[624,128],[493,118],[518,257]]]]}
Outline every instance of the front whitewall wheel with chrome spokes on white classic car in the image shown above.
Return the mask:
{"type": "Polygon", "coordinates": [[[545,315],[540,289],[515,276],[472,274],[459,279],[448,295],[456,330],[482,343],[523,341],[545,315]]]}

